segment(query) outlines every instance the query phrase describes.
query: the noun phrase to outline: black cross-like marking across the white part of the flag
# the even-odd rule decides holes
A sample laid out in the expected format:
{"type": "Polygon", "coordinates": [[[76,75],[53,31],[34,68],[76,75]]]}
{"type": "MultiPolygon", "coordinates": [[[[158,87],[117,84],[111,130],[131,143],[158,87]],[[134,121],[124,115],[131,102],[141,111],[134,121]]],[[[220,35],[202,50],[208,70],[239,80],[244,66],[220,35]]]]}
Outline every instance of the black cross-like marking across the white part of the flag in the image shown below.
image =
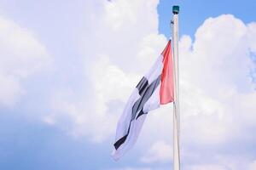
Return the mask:
{"type": "Polygon", "coordinates": [[[125,136],[123,136],[117,142],[115,142],[113,144],[115,150],[118,150],[119,146],[121,144],[125,143],[125,140],[127,139],[128,135],[130,133],[131,122],[133,120],[135,120],[135,118],[137,119],[139,116],[142,116],[143,114],[147,114],[147,113],[143,112],[143,106],[148,101],[148,99],[151,97],[151,95],[154,93],[154,90],[160,84],[160,78],[161,78],[161,75],[159,77],[157,77],[154,80],[154,82],[151,82],[151,84],[148,85],[147,78],[143,77],[143,79],[137,84],[137,89],[139,91],[139,94],[141,93],[140,94],[141,97],[139,99],[137,99],[137,101],[132,106],[131,121],[129,123],[129,128],[128,128],[127,133],[125,134],[125,136]],[[139,111],[139,113],[138,113],[138,111],[139,111]],[[138,113],[138,115],[137,115],[137,113],[138,113]],[[136,115],[137,115],[137,117],[136,117],[136,115]]]}

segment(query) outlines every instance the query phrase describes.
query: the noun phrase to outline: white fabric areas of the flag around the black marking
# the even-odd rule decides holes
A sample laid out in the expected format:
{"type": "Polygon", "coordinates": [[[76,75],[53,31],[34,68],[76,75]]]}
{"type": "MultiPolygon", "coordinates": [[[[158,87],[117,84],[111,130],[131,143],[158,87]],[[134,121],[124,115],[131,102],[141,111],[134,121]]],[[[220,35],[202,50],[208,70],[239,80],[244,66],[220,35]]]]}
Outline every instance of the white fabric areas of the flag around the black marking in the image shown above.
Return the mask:
{"type": "MultiPolygon", "coordinates": [[[[148,80],[148,84],[151,84],[152,82],[154,82],[154,80],[156,80],[160,76],[161,71],[163,69],[162,59],[163,59],[163,56],[160,55],[160,57],[158,57],[158,59],[155,61],[153,67],[145,75],[145,78],[147,78],[148,80]]],[[[160,84],[158,84],[158,87],[154,90],[154,93],[150,96],[150,98],[147,100],[145,105],[143,105],[144,112],[152,111],[154,109],[157,109],[160,106],[159,95],[160,95],[160,84]]],[[[141,98],[141,95],[139,94],[139,91],[136,88],[131,94],[130,99],[128,99],[128,102],[125,105],[125,110],[123,111],[123,114],[119,119],[115,141],[118,141],[128,133],[130,122],[131,122],[131,127],[130,127],[129,134],[125,139],[125,142],[121,144],[117,150],[115,148],[113,149],[112,156],[114,160],[118,160],[121,156],[123,156],[125,152],[130,150],[131,147],[137,141],[137,137],[141,131],[143,122],[147,116],[147,114],[143,114],[142,116],[139,116],[137,119],[134,119],[131,121],[132,106],[135,104],[135,102],[139,98],[141,98]]],[[[137,111],[137,114],[138,113],[139,111],[137,111]]],[[[136,117],[137,117],[137,114],[136,114],[136,117]]]]}

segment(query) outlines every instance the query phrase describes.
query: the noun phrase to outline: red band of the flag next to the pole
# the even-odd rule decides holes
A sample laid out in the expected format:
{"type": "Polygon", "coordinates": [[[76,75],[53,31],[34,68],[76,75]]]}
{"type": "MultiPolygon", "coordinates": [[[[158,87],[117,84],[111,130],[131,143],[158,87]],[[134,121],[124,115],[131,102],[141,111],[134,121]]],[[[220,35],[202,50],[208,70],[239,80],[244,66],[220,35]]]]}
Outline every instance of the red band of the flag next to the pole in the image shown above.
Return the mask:
{"type": "Polygon", "coordinates": [[[170,103],[174,100],[174,84],[173,84],[173,62],[171,40],[167,43],[166,48],[162,52],[163,71],[161,75],[160,86],[160,105],[170,103]]]}

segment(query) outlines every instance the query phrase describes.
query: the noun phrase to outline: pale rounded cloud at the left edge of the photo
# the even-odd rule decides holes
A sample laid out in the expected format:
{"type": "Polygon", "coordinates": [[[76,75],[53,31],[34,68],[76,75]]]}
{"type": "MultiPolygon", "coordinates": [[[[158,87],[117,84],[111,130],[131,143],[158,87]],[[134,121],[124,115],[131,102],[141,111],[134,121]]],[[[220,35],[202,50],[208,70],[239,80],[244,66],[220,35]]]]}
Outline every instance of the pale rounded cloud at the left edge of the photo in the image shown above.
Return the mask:
{"type": "Polygon", "coordinates": [[[13,105],[26,93],[21,81],[49,65],[44,45],[31,31],[0,16],[0,105],[13,105]]]}

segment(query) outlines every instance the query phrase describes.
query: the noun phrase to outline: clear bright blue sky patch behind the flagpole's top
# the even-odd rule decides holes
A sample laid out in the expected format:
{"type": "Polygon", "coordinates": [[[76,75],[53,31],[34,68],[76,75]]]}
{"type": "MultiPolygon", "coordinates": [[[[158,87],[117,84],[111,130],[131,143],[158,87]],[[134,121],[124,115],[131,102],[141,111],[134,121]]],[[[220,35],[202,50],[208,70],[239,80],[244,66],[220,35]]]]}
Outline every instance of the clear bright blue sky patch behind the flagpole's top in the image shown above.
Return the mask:
{"type": "Polygon", "coordinates": [[[209,17],[217,17],[220,14],[234,14],[245,23],[255,21],[255,3],[253,0],[239,1],[168,1],[162,0],[158,6],[160,14],[160,32],[169,36],[168,23],[172,16],[172,5],[178,4],[181,7],[179,16],[183,25],[180,26],[181,34],[193,36],[196,29],[209,17]]]}

